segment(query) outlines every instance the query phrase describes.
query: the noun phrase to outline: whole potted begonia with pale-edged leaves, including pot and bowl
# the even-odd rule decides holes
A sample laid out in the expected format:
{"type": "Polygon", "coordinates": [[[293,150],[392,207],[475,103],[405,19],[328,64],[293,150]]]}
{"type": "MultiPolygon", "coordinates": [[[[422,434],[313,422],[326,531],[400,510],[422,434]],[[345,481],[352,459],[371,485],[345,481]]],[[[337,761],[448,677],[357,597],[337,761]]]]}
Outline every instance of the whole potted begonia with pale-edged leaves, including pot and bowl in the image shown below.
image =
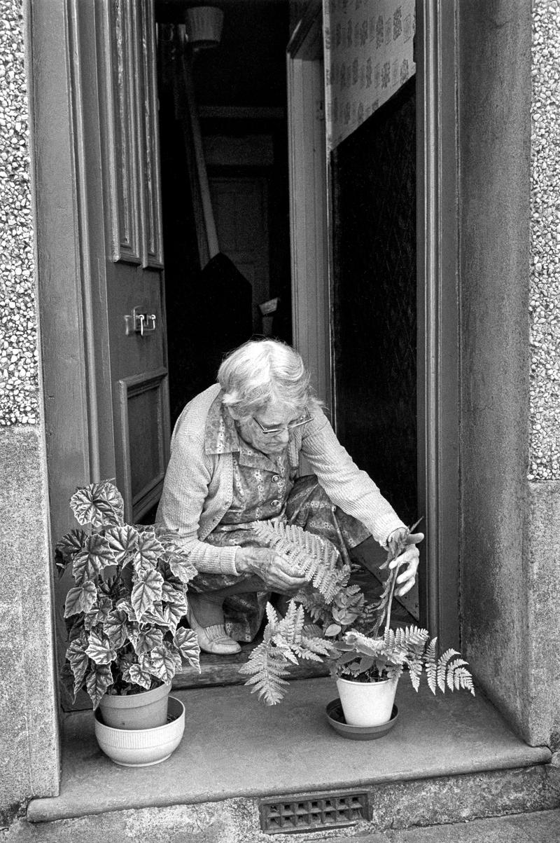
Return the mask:
{"type": "Polygon", "coordinates": [[[63,679],[74,700],[87,690],[104,752],[118,763],[156,763],[184,728],[184,706],[168,700],[171,680],[184,666],[200,670],[196,634],[181,625],[196,570],[173,534],[125,524],[112,482],[83,486],[70,505],[80,528],[56,545],[56,565],[61,573],[71,568],[75,582],[64,608],[63,679]],[[128,760],[111,755],[126,740],[128,760]]]}

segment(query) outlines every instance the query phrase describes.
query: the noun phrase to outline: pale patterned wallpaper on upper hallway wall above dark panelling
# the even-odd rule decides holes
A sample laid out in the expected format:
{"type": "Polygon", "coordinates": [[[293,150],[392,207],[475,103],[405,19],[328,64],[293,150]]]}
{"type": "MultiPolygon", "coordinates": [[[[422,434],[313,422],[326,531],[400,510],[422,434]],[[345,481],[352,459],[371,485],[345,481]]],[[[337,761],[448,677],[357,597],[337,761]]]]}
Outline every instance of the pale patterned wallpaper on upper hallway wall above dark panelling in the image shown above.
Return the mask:
{"type": "Polygon", "coordinates": [[[328,148],[413,76],[414,0],[323,0],[328,148]]]}

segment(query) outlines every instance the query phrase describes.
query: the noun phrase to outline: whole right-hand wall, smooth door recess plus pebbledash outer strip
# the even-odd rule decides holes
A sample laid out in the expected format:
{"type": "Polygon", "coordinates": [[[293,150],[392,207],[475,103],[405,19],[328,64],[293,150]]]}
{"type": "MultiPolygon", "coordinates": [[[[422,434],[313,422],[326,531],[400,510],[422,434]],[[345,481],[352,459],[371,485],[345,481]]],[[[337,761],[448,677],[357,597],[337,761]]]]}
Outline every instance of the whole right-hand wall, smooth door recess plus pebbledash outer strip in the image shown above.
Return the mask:
{"type": "Polygon", "coordinates": [[[463,638],[517,730],[557,749],[560,4],[460,0],[458,46],[463,638]]]}

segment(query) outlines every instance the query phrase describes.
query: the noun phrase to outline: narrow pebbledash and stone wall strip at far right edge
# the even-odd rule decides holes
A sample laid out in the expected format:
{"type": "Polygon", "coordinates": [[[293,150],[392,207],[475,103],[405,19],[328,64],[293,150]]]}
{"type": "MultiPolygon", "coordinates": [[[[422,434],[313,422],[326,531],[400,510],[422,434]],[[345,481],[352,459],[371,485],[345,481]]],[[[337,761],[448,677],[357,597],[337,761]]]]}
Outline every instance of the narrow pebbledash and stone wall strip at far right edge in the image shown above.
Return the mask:
{"type": "Polygon", "coordinates": [[[560,2],[536,0],[531,92],[528,578],[536,739],[560,746],[560,2]]]}

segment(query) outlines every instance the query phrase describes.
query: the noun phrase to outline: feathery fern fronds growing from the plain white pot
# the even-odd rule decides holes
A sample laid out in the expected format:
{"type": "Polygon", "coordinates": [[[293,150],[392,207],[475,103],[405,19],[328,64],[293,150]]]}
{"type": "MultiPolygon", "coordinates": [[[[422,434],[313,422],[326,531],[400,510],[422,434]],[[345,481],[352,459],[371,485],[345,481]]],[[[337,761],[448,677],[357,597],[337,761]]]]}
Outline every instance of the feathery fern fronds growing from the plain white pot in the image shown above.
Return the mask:
{"type": "MultiPolygon", "coordinates": [[[[414,527],[416,524],[414,525],[414,527]]],[[[414,527],[412,529],[414,529],[414,527]]],[[[470,690],[467,662],[449,649],[437,658],[437,639],[418,626],[392,630],[392,599],[400,566],[392,568],[375,606],[371,636],[350,627],[365,612],[360,588],[349,585],[350,569],[340,563],[338,550],[328,540],[286,524],[259,524],[259,540],[296,562],[309,586],[290,601],[284,618],[267,606],[263,642],[241,668],[246,685],[267,705],[279,703],[288,685],[291,665],[300,659],[327,660],[334,676],[359,682],[398,679],[408,668],[413,688],[425,674],[430,690],[470,690]],[[305,624],[305,612],[314,622],[305,624]],[[380,635],[381,626],[384,631],[380,635]]],[[[408,531],[410,532],[410,530],[408,531]]],[[[382,568],[403,553],[406,535],[389,550],[382,568]]]]}

